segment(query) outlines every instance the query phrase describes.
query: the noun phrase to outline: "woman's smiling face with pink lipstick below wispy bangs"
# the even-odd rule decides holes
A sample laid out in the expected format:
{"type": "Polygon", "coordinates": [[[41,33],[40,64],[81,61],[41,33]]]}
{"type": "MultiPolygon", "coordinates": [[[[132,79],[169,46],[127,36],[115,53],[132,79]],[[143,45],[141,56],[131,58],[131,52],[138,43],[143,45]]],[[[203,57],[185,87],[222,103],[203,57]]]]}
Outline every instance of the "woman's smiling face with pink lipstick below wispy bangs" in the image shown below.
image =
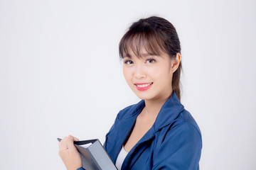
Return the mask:
{"type": "Polygon", "coordinates": [[[171,80],[176,70],[173,67],[175,60],[171,60],[166,53],[149,55],[146,50],[142,50],[142,57],[139,58],[132,50],[129,50],[129,55],[131,57],[123,58],[123,72],[132,91],[139,98],[149,101],[169,98],[171,80]]]}

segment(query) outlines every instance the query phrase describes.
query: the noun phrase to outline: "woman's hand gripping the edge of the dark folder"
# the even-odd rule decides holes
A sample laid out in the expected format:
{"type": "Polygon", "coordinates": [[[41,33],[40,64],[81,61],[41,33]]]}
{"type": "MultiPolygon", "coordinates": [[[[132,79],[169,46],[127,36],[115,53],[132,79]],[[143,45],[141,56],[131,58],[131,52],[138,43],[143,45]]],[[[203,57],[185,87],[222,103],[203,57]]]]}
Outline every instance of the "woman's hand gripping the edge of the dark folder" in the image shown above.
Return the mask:
{"type": "Polygon", "coordinates": [[[67,170],[76,170],[82,167],[82,159],[74,145],[74,141],[78,141],[78,138],[69,135],[59,142],[59,155],[67,170]]]}

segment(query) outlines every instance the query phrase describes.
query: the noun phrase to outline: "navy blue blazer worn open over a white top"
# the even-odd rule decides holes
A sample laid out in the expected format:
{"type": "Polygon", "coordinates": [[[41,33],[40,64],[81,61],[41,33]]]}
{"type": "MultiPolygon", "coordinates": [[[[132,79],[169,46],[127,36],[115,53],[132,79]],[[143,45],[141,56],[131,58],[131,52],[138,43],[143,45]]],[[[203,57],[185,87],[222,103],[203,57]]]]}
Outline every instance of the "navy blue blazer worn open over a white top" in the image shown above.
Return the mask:
{"type": "MultiPolygon", "coordinates": [[[[144,106],[142,100],[124,108],[107,133],[104,147],[114,163],[144,106]]],[[[198,125],[173,92],[162,106],[154,125],[127,154],[122,170],[199,169],[201,148],[198,125]]]]}

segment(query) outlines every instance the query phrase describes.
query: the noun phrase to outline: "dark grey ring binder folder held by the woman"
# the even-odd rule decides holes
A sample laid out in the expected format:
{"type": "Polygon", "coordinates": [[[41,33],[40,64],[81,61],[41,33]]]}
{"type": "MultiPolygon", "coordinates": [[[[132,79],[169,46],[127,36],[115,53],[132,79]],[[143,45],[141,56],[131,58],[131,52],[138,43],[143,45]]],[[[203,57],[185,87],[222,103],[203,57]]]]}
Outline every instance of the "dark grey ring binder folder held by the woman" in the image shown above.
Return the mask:
{"type": "MultiPolygon", "coordinates": [[[[58,141],[60,142],[60,138],[58,141]]],[[[74,141],[75,147],[78,149],[82,159],[82,167],[86,170],[117,170],[110,156],[105,151],[99,140],[81,140],[74,141]],[[80,145],[91,145],[87,148],[80,145]]]]}

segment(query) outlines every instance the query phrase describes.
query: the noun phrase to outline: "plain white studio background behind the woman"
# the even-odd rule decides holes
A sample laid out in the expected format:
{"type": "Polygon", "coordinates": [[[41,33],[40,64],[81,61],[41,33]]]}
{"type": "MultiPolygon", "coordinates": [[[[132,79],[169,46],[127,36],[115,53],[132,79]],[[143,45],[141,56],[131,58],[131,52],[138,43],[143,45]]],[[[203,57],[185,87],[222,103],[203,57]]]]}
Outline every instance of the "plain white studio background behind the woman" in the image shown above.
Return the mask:
{"type": "Polygon", "coordinates": [[[118,43],[157,15],[181,40],[201,169],[256,169],[255,1],[0,1],[0,169],[65,169],[57,137],[103,143],[137,103],[118,43]]]}

